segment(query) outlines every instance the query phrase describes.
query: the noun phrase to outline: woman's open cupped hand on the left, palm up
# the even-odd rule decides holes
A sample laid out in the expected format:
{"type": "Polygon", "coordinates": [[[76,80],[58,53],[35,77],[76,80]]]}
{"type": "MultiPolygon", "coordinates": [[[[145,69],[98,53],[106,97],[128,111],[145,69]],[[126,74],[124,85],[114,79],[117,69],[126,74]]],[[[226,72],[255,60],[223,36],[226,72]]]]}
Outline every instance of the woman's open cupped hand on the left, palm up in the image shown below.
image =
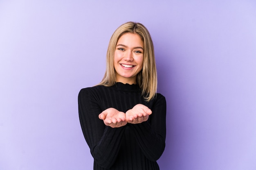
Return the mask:
{"type": "Polygon", "coordinates": [[[106,126],[112,128],[121,127],[127,124],[125,113],[118,111],[115,108],[108,108],[101,112],[99,114],[99,119],[103,120],[106,126]]]}

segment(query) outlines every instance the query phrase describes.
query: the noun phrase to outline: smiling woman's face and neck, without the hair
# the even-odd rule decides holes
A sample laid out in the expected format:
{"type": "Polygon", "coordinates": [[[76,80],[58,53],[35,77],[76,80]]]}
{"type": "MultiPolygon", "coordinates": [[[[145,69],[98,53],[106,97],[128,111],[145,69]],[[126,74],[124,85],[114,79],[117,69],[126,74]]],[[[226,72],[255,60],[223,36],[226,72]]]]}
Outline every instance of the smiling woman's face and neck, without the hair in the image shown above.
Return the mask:
{"type": "Polygon", "coordinates": [[[136,76],[143,67],[144,43],[135,33],[125,33],[117,41],[114,54],[116,81],[136,84],[136,76]]]}

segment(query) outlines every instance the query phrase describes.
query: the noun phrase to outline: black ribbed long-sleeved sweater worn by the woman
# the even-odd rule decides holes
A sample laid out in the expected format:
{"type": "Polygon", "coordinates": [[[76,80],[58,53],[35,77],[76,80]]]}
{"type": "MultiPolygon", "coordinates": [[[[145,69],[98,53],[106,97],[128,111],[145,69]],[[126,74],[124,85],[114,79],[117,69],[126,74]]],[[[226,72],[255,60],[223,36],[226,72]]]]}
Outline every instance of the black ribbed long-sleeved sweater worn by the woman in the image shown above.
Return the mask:
{"type": "Polygon", "coordinates": [[[146,102],[138,85],[98,85],[81,89],[78,105],[94,170],[159,170],[156,161],[164,151],[166,137],[166,100],[162,94],[146,102]],[[137,104],[151,109],[146,122],[112,128],[98,117],[110,107],[126,113],[137,104]]]}

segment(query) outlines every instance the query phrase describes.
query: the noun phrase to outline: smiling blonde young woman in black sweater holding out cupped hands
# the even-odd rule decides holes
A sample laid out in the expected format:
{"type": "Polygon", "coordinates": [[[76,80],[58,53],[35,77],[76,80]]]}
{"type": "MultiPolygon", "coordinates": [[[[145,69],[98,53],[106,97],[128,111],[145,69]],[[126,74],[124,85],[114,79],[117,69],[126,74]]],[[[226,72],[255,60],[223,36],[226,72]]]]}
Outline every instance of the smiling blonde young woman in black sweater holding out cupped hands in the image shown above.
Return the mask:
{"type": "Polygon", "coordinates": [[[165,148],[166,100],[156,93],[153,42],[145,26],[114,32],[99,85],[81,89],[79,118],[94,170],[159,170],[165,148]]]}

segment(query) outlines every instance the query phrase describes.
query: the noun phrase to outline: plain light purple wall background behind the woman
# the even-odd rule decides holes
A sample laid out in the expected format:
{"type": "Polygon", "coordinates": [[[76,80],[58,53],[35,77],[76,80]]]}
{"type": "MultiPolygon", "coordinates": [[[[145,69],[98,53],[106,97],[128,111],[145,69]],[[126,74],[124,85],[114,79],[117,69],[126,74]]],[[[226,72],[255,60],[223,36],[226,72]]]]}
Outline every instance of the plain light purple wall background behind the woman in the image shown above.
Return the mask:
{"type": "Polygon", "coordinates": [[[255,0],[1,0],[0,170],[92,169],[77,95],[127,21],[155,45],[161,170],[255,170],[255,0]]]}

